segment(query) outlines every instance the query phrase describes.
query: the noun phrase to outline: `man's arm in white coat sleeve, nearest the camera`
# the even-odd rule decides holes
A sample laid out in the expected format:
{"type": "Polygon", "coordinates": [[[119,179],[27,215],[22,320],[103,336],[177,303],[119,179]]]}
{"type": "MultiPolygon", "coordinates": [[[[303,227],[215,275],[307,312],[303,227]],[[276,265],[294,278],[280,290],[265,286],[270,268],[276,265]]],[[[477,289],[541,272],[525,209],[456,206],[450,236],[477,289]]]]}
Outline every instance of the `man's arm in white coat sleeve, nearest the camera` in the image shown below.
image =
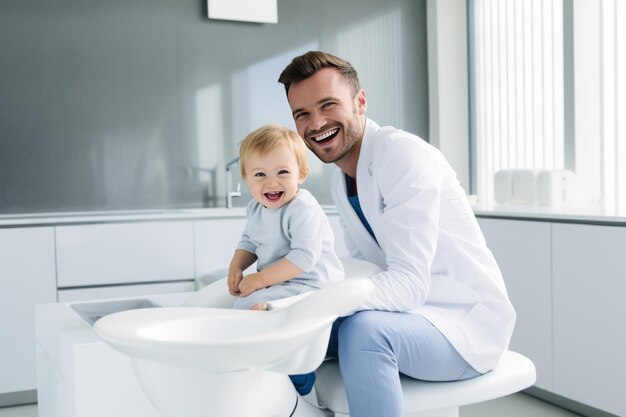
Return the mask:
{"type": "Polygon", "coordinates": [[[371,278],[376,290],[363,307],[408,311],[430,291],[447,169],[442,157],[410,138],[390,139],[383,150],[374,172],[384,202],[375,232],[387,268],[371,278]]]}

